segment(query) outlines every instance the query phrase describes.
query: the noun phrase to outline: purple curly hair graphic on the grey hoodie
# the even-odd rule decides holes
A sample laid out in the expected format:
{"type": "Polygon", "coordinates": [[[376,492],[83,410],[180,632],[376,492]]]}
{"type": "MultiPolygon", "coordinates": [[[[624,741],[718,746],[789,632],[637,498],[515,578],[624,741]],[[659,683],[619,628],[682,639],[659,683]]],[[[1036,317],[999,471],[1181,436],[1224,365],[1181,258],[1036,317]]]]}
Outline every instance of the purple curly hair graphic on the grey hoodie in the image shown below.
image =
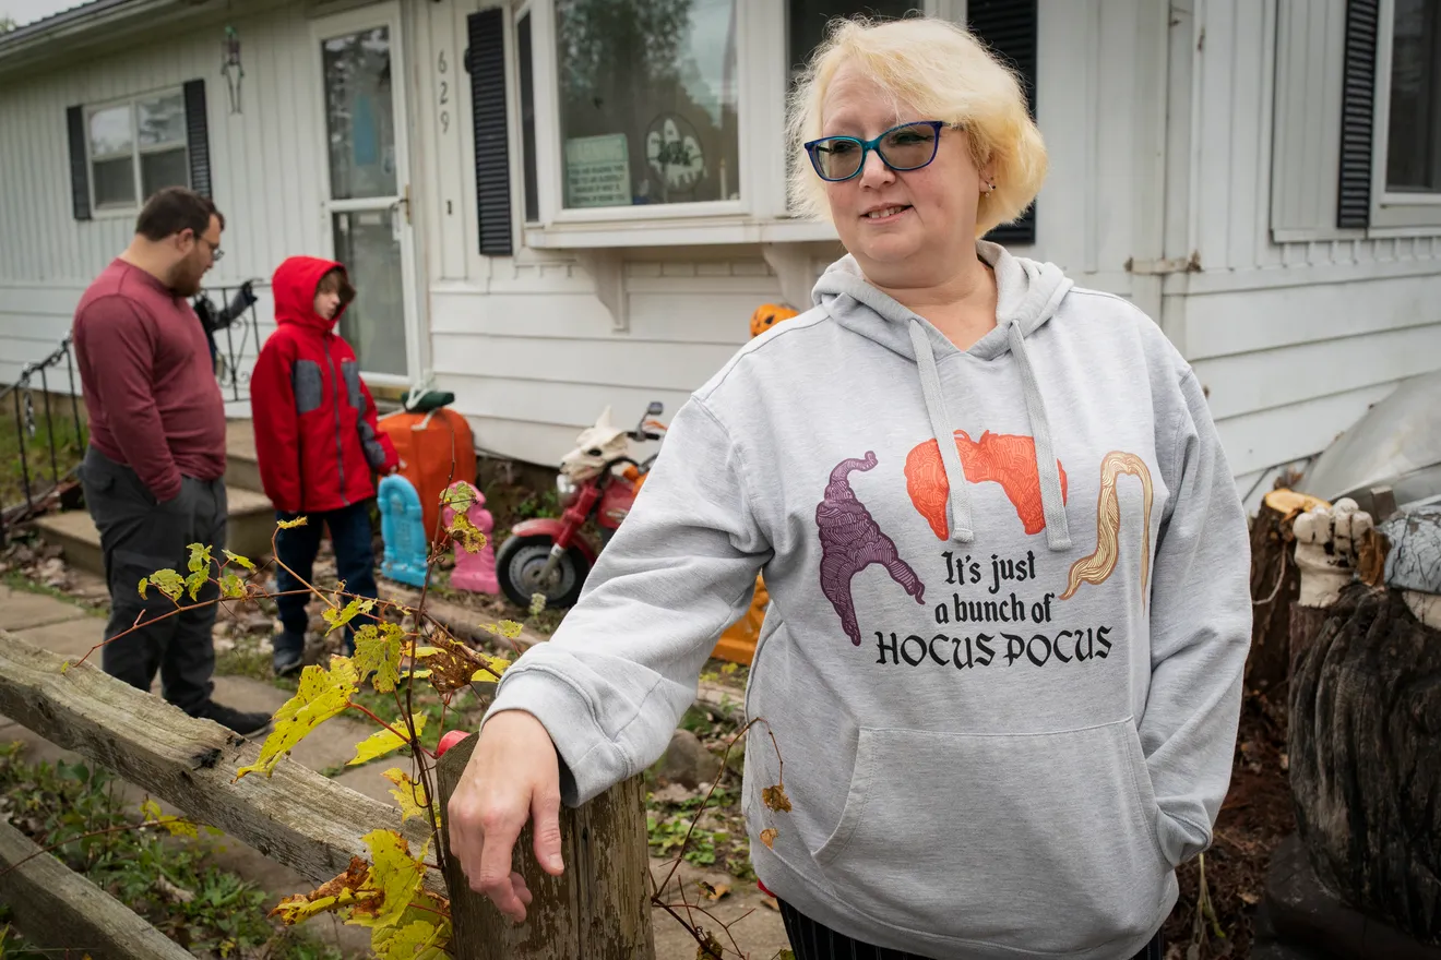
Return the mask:
{"type": "Polygon", "coordinates": [[[860,646],[860,625],[850,596],[850,581],[857,573],[879,563],[916,603],[925,603],[925,584],[915,570],[896,553],[895,541],[880,530],[866,505],[850,488],[852,471],[870,471],[876,455],[866,450],[863,458],[842,461],[831,469],[826,495],[816,507],[816,527],[820,533],[820,589],[840,615],[846,636],[860,646]]]}

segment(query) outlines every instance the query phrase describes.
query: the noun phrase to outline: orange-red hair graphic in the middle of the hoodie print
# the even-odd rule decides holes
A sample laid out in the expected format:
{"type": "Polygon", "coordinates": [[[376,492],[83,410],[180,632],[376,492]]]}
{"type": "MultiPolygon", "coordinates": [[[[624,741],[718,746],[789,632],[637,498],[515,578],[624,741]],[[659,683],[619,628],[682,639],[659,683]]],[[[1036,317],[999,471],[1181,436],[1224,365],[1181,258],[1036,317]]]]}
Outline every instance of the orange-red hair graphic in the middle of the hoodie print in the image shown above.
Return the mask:
{"type": "MultiPolygon", "coordinates": [[[[1019,433],[991,433],[986,430],[981,439],[973,440],[965,430],[955,432],[955,452],[961,455],[961,469],[971,484],[994,482],[1006,491],[1016,508],[1016,515],[1027,534],[1039,534],[1046,528],[1046,510],[1040,504],[1040,474],[1036,469],[1036,440],[1019,433]]],[[[1066,502],[1066,471],[1056,461],[1061,472],[1061,502],[1066,502]]],[[[941,445],[935,440],[918,443],[905,458],[905,485],[911,504],[931,524],[937,540],[945,540],[951,531],[945,520],[945,501],[951,484],[945,479],[945,463],[941,461],[941,445]]]]}

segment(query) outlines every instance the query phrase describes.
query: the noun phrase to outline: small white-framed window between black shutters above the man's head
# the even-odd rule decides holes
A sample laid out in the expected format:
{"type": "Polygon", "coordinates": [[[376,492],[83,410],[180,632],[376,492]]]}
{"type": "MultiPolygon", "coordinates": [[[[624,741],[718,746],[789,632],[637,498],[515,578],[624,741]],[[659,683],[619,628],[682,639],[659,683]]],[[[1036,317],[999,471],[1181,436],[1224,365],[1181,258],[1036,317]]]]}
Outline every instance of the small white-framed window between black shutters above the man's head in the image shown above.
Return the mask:
{"type": "Polygon", "coordinates": [[[170,91],[89,111],[95,209],[133,209],[161,187],[190,186],[186,104],[170,91]]]}

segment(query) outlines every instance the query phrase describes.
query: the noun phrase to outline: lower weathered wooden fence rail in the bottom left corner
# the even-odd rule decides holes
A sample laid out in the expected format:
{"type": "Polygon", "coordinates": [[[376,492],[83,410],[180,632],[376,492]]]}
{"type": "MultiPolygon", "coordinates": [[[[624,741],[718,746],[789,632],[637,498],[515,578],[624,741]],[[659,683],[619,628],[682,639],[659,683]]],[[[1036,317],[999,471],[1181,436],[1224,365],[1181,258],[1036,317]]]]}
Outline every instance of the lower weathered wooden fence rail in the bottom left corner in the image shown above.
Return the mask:
{"type": "Polygon", "coordinates": [[[146,920],[71,871],[40,853],[20,830],[0,820],[0,904],[30,943],[56,956],[94,960],[193,960],[146,920]],[[17,869],[10,869],[24,861],[17,869]]]}

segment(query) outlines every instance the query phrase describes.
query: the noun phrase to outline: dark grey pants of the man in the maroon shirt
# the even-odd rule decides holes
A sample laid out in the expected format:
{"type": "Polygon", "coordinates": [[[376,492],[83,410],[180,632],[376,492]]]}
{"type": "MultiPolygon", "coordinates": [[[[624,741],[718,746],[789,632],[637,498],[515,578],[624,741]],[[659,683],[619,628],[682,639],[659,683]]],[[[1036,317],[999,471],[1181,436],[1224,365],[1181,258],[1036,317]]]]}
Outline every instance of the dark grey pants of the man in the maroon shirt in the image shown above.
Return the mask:
{"type": "MultiPolygon", "coordinates": [[[[135,472],[95,448],[81,465],[85,504],[99,530],[110,586],[110,620],[105,639],[125,633],[137,617],[154,620],[176,604],[151,587],[140,597],[140,580],[157,570],[189,576],[190,544],[210,547],[213,557],[225,547],[225,481],[186,476],[180,495],[157,504],[135,472]]],[[[160,674],[160,692],[187,714],[200,714],[210,704],[210,675],[215,672],[215,600],[219,590],[208,583],[197,600],[186,593],[182,613],[127,633],[101,649],[107,674],[131,687],[150,691],[160,674]]]]}

